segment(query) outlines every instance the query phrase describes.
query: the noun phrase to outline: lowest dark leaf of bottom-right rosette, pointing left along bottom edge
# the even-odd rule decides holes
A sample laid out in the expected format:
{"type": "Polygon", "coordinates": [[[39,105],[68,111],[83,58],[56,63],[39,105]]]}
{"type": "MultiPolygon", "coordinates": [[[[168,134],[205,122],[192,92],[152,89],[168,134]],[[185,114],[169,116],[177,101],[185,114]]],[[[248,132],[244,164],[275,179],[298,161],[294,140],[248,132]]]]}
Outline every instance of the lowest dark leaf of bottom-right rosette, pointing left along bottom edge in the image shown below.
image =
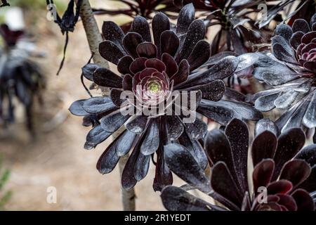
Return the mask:
{"type": "Polygon", "coordinates": [[[182,188],[166,186],[162,190],[162,204],[169,211],[213,211],[225,210],[187,193],[182,188]]]}

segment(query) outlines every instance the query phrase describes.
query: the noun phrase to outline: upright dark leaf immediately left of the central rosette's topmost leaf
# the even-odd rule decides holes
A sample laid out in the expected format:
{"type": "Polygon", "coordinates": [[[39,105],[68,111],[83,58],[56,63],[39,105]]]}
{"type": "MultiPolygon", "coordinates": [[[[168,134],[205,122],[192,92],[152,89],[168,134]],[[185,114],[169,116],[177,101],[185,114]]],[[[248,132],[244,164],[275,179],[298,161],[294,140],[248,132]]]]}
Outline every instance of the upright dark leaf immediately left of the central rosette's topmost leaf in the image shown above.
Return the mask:
{"type": "Polygon", "coordinates": [[[157,13],[154,15],[154,18],[152,18],[152,32],[154,36],[154,44],[157,46],[158,49],[158,57],[162,55],[160,52],[160,37],[162,35],[162,32],[165,30],[170,30],[170,22],[168,16],[166,16],[164,13],[157,13]]]}

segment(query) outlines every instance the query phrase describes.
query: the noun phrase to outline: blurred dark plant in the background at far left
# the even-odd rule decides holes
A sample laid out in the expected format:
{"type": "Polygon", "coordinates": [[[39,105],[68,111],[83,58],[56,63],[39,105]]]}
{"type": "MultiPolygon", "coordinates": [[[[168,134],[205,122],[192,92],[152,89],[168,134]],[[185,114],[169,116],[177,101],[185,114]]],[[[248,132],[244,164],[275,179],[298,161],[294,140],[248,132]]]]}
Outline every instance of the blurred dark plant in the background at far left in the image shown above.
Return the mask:
{"type": "Polygon", "coordinates": [[[22,39],[23,30],[13,31],[2,24],[0,34],[4,40],[0,53],[0,121],[5,125],[14,122],[16,97],[24,105],[27,129],[33,131],[32,105],[34,96],[45,86],[44,77],[32,60],[32,51],[24,47],[28,42],[22,39]]]}

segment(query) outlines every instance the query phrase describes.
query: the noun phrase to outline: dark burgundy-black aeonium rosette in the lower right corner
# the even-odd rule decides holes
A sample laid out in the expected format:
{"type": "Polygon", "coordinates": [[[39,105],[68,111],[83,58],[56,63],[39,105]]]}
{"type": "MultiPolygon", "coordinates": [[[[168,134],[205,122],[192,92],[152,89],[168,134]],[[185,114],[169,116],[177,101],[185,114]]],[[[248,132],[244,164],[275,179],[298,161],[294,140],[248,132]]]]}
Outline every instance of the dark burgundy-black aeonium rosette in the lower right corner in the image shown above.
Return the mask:
{"type": "Polygon", "coordinates": [[[277,127],[263,119],[256,124],[256,138],[249,148],[249,130],[241,120],[232,120],[225,131],[209,131],[205,150],[211,179],[183,146],[164,147],[169,168],[190,186],[167,186],[162,202],[167,210],[315,210],[316,145],[306,146],[300,128],[276,136],[277,127]],[[254,165],[248,165],[249,149],[254,165]],[[187,167],[186,165],[191,165],[187,167]],[[249,184],[249,172],[252,174],[249,184]],[[197,188],[221,205],[199,199],[186,190],[197,188]],[[263,192],[265,191],[265,194],[263,192]]]}

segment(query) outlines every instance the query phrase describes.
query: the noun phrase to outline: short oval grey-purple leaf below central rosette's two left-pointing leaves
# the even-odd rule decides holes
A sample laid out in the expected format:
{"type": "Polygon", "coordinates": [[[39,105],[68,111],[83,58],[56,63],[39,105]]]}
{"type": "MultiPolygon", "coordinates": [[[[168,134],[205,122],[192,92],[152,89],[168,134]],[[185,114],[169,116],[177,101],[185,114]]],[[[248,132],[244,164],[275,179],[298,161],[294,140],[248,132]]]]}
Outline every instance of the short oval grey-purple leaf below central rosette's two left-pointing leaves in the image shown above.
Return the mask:
{"type": "Polygon", "coordinates": [[[114,132],[121,127],[130,115],[122,115],[120,110],[102,118],[101,127],[107,132],[114,132]]]}

